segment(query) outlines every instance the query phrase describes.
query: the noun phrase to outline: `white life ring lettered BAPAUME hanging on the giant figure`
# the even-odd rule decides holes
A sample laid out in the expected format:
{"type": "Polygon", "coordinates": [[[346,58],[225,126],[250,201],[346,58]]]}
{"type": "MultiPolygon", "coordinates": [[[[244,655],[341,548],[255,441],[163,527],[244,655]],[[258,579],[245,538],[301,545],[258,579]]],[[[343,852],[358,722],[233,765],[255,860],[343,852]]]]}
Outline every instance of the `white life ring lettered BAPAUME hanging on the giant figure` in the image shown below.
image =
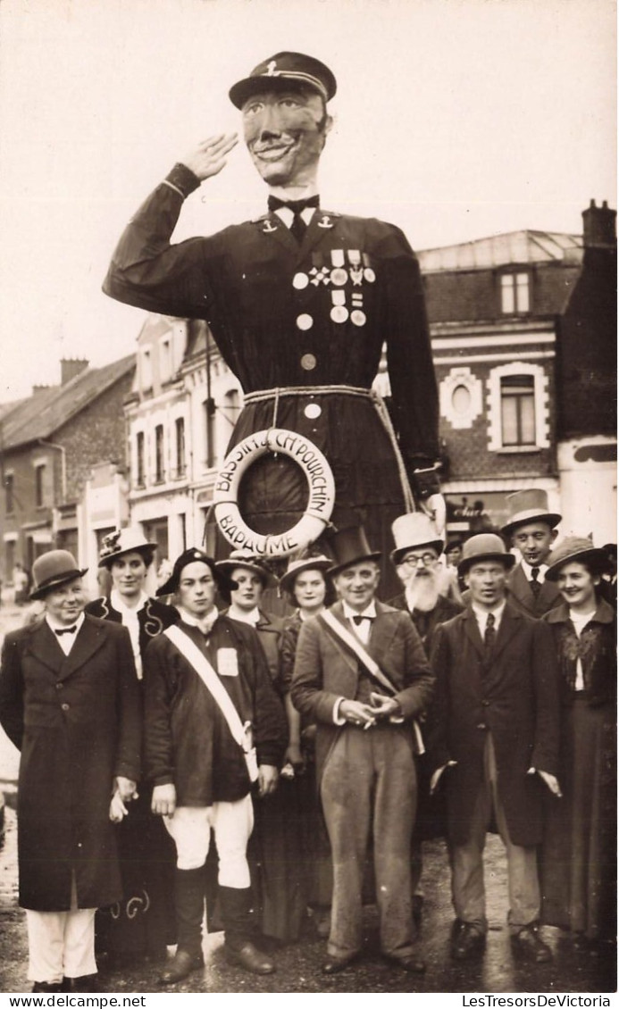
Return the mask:
{"type": "Polygon", "coordinates": [[[333,473],[320,449],[303,435],[285,428],[270,428],[248,435],[225,457],[215,488],[213,504],[219,529],[228,543],[265,557],[286,557],[318,539],[329,524],[335,502],[333,473]],[[240,479],[252,462],[267,452],[282,453],[299,464],[307,477],[309,499],[299,522],[276,536],[254,533],[238,509],[240,479]]]}

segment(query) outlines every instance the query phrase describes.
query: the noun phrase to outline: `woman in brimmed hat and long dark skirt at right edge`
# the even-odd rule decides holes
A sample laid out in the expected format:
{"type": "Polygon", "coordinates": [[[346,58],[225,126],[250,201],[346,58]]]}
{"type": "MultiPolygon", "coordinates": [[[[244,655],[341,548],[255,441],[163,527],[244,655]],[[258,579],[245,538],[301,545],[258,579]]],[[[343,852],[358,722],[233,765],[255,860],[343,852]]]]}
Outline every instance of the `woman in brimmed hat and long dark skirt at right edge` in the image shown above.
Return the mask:
{"type": "Polygon", "coordinates": [[[616,937],[616,618],[598,591],[603,550],[570,537],[548,565],[564,600],[544,618],[559,662],[563,796],[547,804],[542,915],[588,946],[616,937]]]}

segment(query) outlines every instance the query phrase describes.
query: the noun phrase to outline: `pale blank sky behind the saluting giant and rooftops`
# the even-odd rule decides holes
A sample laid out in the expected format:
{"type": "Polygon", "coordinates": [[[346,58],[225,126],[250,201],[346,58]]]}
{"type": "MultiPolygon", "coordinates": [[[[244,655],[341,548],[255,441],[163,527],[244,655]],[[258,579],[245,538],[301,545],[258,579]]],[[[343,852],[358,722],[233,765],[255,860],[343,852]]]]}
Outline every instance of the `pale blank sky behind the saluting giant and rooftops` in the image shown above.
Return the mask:
{"type": "MultiPolygon", "coordinates": [[[[0,403],[135,348],[144,313],[101,293],[114,245],[282,49],[337,78],[324,207],[417,249],[581,233],[616,207],[615,28],[613,0],[0,0],[0,403]]],[[[174,240],[265,209],[238,144],[174,240]]]]}

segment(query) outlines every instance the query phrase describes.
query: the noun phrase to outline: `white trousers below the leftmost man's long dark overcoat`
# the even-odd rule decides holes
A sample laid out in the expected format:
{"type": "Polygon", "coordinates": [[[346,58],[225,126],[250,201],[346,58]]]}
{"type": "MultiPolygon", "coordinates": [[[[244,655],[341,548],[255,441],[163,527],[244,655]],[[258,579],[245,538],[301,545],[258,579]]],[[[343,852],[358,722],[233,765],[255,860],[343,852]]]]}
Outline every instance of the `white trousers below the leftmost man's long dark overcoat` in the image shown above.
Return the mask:
{"type": "Polygon", "coordinates": [[[75,879],[70,911],[26,910],[28,978],[57,985],[97,973],[95,907],[78,908],[75,879]]]}

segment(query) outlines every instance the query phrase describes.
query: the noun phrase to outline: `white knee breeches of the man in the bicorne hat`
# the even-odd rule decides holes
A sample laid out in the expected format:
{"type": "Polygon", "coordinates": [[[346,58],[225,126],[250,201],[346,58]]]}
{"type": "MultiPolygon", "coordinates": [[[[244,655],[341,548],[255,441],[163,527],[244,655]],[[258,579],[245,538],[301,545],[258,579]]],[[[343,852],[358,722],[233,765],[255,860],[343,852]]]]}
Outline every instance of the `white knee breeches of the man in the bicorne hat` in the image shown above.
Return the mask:
{"type": "Polygon", "coordinates": [[[206,862],[211,827],[219,859],[220,886],[245,890],[249,886],[247,842],[253,829],[251,796],[236,802],[214,802],[212,806],[178,806],[165,816],[169,833],[177,846],[179,869],[199,869],[206,862]]]}

